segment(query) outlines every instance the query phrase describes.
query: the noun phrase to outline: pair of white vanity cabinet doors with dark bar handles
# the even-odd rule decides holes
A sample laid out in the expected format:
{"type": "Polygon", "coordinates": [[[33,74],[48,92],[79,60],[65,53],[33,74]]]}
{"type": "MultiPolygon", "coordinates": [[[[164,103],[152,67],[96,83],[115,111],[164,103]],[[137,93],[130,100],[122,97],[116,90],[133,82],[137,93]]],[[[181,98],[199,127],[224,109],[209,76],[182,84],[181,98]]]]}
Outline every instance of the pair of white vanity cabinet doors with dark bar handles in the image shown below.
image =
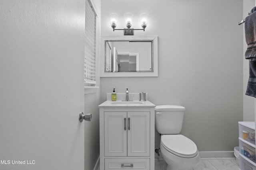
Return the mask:
{"type": "Polygon", "coordinates": [[[150,156],[150,112],[104,112],[105,156],[150,156]]]}

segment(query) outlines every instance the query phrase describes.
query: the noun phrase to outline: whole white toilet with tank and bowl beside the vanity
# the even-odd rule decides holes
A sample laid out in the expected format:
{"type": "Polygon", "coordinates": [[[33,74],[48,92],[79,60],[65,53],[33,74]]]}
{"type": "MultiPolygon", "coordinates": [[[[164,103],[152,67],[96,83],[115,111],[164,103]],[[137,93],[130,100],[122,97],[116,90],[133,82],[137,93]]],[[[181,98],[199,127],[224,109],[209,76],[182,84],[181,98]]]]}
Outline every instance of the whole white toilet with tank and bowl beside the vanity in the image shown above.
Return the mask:
{"type": "Polygon", "coordinates": [[[161,134],[160,150],[167,170],[192,170],[199,164],[196,144],[180,135],[185,107],[160,105],[155,107],[155,125],[161,134]]]}

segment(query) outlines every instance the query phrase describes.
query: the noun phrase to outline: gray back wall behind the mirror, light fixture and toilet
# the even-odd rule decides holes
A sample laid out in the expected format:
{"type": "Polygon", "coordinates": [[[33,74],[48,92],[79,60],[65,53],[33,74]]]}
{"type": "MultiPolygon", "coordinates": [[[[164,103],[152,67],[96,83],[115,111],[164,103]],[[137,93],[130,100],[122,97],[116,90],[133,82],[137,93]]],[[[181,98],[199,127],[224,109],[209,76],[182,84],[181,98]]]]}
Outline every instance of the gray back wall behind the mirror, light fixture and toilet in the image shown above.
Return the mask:
{"type": "MultiPolygon", "coordinates": [[[[238,146],[238,121],[243,120],[243,18],[240,0],[102,0],[101,35],[112,31],[109,14],[150,15],[146,31],[158,35],[158,77],[100,78],[100,102],[116,88],[124,93],[147,92],[156,104],[186,107],[182,134],[199,151],[232,151],[238,146]]],[[[156,147],[160,136],[156,132],[156,147]]]]}

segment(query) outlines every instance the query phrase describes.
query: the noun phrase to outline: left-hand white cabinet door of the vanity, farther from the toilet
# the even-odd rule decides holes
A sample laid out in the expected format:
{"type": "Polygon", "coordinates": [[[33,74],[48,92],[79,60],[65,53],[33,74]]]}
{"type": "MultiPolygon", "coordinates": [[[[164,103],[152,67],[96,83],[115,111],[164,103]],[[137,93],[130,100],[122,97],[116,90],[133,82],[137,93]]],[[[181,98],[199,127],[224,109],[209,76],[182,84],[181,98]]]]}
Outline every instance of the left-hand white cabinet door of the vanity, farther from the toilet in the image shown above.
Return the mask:
{"type": "Polygon", "coordinates": [[[127,112],[104,112],[105,156],[127,156],[127,112]]]}

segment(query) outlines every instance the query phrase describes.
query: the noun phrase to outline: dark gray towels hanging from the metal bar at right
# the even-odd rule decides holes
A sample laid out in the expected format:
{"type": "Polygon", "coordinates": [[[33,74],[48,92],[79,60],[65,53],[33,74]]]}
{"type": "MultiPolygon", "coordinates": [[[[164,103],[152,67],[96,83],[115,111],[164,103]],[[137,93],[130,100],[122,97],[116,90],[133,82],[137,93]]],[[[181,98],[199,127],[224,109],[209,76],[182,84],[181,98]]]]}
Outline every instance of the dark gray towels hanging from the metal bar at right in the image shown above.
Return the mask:
{"type": "Polygon", "coordinates": [[[247,50],[245,58],[249,60],[249,80],[246,95],[256,98],[256,7],[245,18],[244,30],[247,50]]]}

